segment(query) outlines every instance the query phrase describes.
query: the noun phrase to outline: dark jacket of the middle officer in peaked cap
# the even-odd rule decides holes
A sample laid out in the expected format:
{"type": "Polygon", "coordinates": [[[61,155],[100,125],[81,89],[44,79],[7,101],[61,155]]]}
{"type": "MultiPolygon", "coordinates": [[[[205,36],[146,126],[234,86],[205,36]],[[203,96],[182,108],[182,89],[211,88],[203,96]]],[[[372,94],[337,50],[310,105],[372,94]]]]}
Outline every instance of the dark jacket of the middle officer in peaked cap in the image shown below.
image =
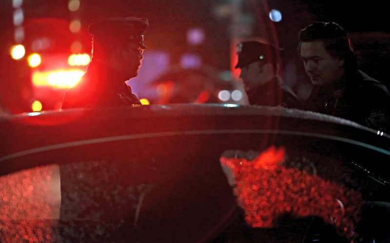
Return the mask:
{"type": "Polygon", "coordinates": [[[291,88],[277,78],[249,90],[247,95],[250,104],[301,108],[299,99],[291,88]]]}

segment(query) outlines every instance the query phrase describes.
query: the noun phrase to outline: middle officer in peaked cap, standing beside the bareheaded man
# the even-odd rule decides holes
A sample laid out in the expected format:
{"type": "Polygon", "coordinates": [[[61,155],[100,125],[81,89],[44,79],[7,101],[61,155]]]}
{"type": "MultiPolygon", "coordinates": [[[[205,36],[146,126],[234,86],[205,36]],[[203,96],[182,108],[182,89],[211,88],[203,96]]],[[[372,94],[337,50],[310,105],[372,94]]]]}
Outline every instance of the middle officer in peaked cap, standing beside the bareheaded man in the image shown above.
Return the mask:
{"type": "Polygon", "coordinates": [[[280,52],[267,43],[242,41],[237,45],[238,62],[250,104],[299,108],[298,97],[280,78],[280,52]]]}

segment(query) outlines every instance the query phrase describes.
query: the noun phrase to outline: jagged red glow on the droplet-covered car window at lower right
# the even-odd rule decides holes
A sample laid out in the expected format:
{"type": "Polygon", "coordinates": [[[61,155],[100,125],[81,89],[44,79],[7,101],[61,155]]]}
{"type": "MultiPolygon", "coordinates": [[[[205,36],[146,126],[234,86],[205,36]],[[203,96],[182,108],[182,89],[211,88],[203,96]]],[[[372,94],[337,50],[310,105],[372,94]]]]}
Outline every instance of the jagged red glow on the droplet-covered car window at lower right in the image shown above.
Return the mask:
{"type": "Polygon", "coordinates": [[[354,239],[360,220],[362,198],[357,191],[320,176],[286,168],[284,148],[269,148],[254,160],[221,158],[234,177],[234,194],[244,209],[245,221],[253,227],[273,227],[279,216],[318,216],[337,232],[354,239]]]}

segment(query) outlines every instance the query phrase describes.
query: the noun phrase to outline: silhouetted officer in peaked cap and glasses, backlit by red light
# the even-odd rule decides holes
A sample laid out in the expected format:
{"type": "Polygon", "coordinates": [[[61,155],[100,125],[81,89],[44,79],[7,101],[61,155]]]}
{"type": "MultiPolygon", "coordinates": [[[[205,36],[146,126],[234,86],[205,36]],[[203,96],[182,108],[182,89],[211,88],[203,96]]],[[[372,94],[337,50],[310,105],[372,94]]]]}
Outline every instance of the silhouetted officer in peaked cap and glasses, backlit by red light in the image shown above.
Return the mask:
{"type": "Polygon", "coordinates": [[[136,77],[146,46],[147,18],[107,18],[89,25],[92,59],[81,82],[68,89],[62,108],[140,106],[125,81],[136,77]]]}

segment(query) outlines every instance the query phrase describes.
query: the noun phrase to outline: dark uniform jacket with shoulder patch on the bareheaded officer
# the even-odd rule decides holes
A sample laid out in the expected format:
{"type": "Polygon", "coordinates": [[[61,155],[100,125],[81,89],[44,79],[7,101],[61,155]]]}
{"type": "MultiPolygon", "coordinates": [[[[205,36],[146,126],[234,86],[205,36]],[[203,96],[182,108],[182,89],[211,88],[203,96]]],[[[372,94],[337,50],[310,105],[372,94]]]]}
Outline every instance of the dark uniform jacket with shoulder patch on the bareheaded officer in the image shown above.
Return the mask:
{"type": "Polygon", "coordinates": [[[314,87],[305,110],[355,121],[389,133],[390,93],[364,72],[346,74],[337,83],[314,87]]]}

